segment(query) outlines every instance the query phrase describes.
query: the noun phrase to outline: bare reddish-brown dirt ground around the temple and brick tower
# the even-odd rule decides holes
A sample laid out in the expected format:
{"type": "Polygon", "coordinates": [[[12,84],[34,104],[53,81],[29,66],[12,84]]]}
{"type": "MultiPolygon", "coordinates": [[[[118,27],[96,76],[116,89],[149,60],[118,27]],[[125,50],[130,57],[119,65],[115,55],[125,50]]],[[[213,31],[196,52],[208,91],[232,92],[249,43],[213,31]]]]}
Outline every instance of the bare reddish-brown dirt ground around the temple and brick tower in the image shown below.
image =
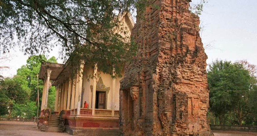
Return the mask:
{"type": "MultiPolygon", "coordinates": [[[[257,132],[213,130],[215,136],[257,136],[257,132]]],[[[0,136],[70,136],[68,133],[41,132],[33,122],[0,121],[0,136]]]]}

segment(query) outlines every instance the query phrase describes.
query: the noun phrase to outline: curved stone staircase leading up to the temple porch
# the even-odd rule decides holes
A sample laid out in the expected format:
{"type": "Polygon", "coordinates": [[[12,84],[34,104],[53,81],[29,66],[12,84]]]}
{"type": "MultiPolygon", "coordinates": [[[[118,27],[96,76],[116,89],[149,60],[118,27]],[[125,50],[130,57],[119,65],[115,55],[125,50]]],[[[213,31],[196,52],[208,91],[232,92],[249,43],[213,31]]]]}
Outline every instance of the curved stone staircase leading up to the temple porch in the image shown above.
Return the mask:
{"type": "Polygon", "coordinates": [[[44,132],[56,132],[56,133],[63,133],[63,127],[59,126],[60,124],[60,116],[59,115],[51,115],[48,121],[48,126],[41,129],[44,132]]]}

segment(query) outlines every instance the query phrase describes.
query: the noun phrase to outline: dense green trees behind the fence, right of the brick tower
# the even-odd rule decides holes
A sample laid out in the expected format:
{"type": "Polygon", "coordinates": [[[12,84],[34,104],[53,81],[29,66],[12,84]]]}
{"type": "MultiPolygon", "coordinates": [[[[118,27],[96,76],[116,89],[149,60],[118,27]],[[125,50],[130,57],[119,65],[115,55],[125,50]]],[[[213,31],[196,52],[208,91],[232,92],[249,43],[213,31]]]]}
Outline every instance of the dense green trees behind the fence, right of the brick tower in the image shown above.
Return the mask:
{"type": "Polygon", "coordinates": [[[257,125],[256,66],[246,60],[213,61],[208,72],[210,110],[214,125],[257,125]]]}

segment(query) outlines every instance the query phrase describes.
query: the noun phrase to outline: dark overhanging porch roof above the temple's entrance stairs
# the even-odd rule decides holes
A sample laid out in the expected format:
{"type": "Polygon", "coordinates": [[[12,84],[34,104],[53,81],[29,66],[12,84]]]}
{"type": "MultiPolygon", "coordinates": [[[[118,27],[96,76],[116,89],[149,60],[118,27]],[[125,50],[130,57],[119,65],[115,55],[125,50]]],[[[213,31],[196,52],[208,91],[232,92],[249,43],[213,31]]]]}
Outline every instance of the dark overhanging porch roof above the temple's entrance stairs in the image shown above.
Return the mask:
{"type": "Polygon", "coordinates": [[[47,72],[47,69],[50,69],[52,70],[50,75],[50,80],[56,80],[56,78],[61,73],[63,68],[64,68],[64,64],[45,62],[41,64],[39,79],[44,79],[44,74],[47,72]]]}

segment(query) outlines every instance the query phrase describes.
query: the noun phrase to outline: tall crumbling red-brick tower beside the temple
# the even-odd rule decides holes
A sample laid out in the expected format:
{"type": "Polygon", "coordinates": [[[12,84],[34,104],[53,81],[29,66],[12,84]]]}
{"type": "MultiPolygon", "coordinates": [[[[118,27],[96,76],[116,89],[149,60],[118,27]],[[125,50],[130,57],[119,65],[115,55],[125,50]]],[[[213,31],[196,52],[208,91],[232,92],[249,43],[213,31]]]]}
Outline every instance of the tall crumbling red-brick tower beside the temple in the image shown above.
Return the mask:
{"type": "Polygon", "coordinates": [[[209,91],[199,18],[186,0],[156,0],[132,37],[120,89],[120,135],[207,136],[209,91]]]}

